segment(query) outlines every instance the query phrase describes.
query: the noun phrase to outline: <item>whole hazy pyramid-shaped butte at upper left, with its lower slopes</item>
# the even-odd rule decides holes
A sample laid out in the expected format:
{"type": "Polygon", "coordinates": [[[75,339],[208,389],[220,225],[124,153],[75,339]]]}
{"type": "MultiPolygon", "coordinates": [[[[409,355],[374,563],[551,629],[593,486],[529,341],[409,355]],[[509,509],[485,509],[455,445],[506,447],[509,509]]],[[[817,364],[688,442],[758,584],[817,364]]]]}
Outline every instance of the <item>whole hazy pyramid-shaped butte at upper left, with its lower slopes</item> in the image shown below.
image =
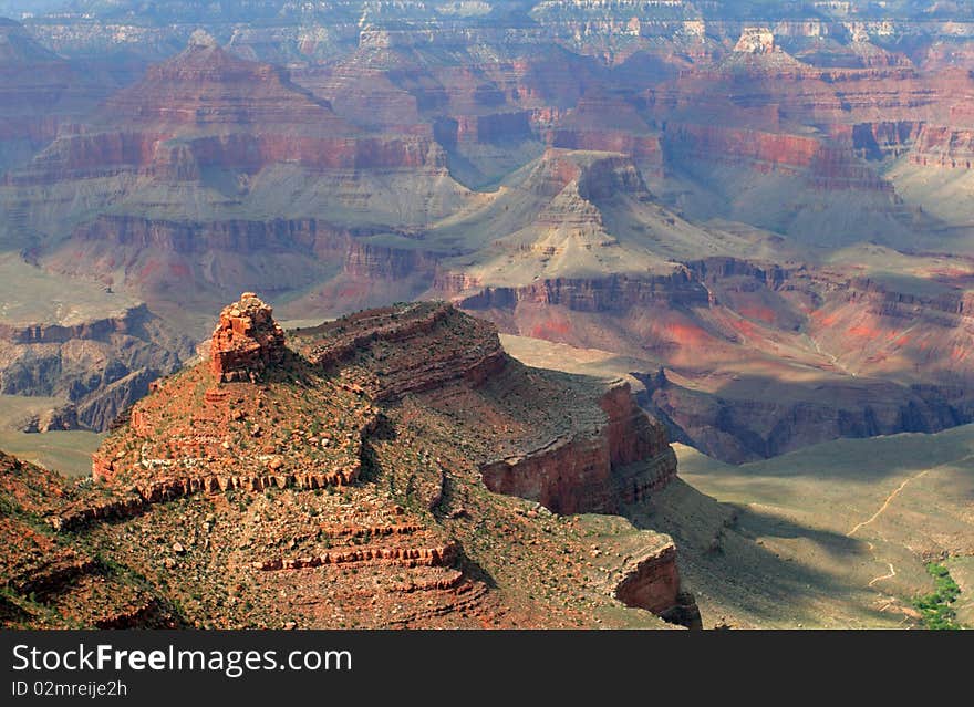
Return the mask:
{"type": "Polygon", "coordinates": [[[428,136],[364,133],[203,33],[7,181],[0,200],[21,214],[7,237],[33,239],[50,268],[197,312],[240,284],[327,280],[355,236],[476,200],[428,136]]]}

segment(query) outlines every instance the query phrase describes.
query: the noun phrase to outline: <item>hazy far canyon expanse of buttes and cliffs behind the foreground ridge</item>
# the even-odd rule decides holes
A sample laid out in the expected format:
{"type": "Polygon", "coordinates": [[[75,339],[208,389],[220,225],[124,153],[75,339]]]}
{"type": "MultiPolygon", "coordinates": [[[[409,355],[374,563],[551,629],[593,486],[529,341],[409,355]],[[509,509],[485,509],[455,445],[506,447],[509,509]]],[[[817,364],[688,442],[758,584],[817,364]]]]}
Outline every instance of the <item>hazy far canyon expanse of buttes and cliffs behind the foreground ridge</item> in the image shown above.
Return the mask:
{"type": "MultiPolygon", "coordinates": [[[[947,40],[908,19],[700,25],[681,3],[528,4],[449,18],[417,6],[393,31],[381,14],[362,29],[354,3],[335,3],[317,41],[205,12],[133,30],[154,37],[142,64],[120,63],[111,85],[93,73],[99,86],[73,84],[89,103],[46,132],[23,128],[37,138],[4,167],[0,240],[65,283],[124,291],[170,339],[205,339],[206,313],[242,289],[282,298],[296,321],[448,299],[506,333],[579,346],[608,336],[646,360],[635,373],[662,366],[690,386],[646,404],[728,460],[968,419],[965,320],[950,304],[966,292],[966,221],[956,205],[945,221],[918,186],[967,169],[963,32],[947,40]],[[647,19],[611,19],[630,10],[647,19]],[[589,39],[574,39],[583,24],[589,39]],[[961,273],[925,267],[946,251],[961,273]],[[736,264],[704,271],[715,258],[736,264]],[[867,302],[869,322],[841,314],[867,302]],[[934,343],[940,332],[955,343],[934,343]],[[691,363],[701,342],[712,346],[691,363]],[[805,366],[820,381],[796,381],[805,366]],[[715,375],[779,381],[801,402],[773,413],[746,386],[701,387],[715,375]],[[821,385],[842,402],[822,406],[821,385]],[[792,422],[769,429],[779,414],[792,422]]],[[[37,17],[4,32],[4,65],[20,76],[27,65],[66,76],[132,49],[97,21],[81,32],[37,17]]],[[[118,402],[82,424],[104,429],[191,355],[182,339],[163,346],[166,364],[123,361],[131,385],[111,376],[74,393],[116,388],[118,402]]],[[[38,385],[42,365],[7,365],[4,380],[21,381],[9,392],[60,394],[38,385]]]]}

